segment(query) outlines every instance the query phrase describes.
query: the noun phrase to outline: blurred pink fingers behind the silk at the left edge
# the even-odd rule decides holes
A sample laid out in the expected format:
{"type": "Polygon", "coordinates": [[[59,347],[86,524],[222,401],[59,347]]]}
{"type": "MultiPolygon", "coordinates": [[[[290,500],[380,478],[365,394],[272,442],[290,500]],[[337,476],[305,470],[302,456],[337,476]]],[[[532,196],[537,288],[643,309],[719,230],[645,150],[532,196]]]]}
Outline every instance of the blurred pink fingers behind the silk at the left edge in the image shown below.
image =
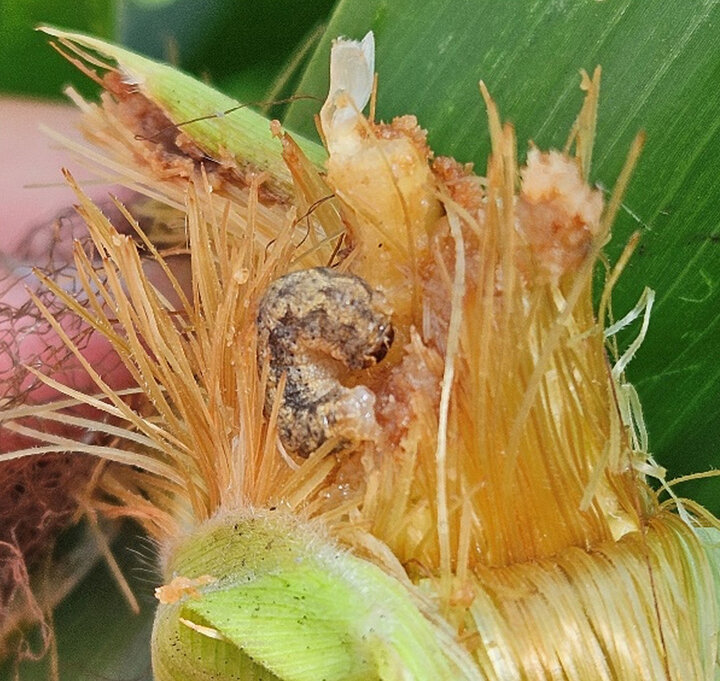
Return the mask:
{"type": "MultiPolygon", "coordinates": [[[[3,159],[0,170],[0,400],[17,393],[18,386],[13,385],[10,377],[18,375],[13,372],[17,372],[18,364],[23,363],[31,363],[41,371],[43,367],[50,367],[54,379],[82,391],[97,391],[77,358],[67,353],[57,334],[46,323],[38,322],[28,293],[28,289],[42,290],[42,284],[32,274],[32,267],[47,264],[50,246],[54,245],[54,262],[71,263],[72,239],[84,234],[83,223],[72,209],[76,197],[64,183],[60,169],[69,168],[81,184],[90,177],[90,172],[67,151],[55,148],[56,145],[38,130],[43,124],[79,139],[78,120],[79,112],[69,106],[0,98],[0,158],[3,159]],[[63,228],[58,239],[53,225],[57,224],[59,216],[63,216],[63,228]],[[20,314],[10,320],[8,307],[27,309],[30,314],[20,314]]],[[[108,185],[89,185],[86,191],[117,224],[111,215],[113,211],[106,209],[108,194],[118,195],[121,200],[130,194],[108,185]]],[[[75,283],[72,269],[64,271],[68,276],[58,281],[72,287],[75,283]]],[[[76,336],[80,328],[77,319],[69,314],[60,315],[58,319],[73,337],[76,336]]],[[[98,334],[92,334],[84,341],[83,354],[112,387],[131,384],[127,370],[98,334]]],[[[23,381],[20,387],[23,401],[45,402],[59,396],[56,391],[36,383],[32,376],[23,381]],[[27,391],[31,384],[34,387],[27,391]]],[[[23,440],[0,432],[0,453],[16,449],[19,443],[27,446],[27,441],[23,440]]]]}

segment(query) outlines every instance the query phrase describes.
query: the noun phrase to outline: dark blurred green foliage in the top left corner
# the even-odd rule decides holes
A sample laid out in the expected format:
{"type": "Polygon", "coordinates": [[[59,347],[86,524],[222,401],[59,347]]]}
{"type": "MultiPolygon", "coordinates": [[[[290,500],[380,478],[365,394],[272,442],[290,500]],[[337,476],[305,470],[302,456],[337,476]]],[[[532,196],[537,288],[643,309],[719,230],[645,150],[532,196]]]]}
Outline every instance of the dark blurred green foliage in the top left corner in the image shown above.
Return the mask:
{"type": "MultiPolygon", "coordinates": [[[[91,91],[77,70],[33,30],[45,23],[123,44],[243,99],[264,97],[296,51],[309,52],[332,0],[4,0],[0,5],[0,92],[62,97],[67,83],[91,91]]],[[[287,91],[292,88],[292,78],[287,91]]]]}

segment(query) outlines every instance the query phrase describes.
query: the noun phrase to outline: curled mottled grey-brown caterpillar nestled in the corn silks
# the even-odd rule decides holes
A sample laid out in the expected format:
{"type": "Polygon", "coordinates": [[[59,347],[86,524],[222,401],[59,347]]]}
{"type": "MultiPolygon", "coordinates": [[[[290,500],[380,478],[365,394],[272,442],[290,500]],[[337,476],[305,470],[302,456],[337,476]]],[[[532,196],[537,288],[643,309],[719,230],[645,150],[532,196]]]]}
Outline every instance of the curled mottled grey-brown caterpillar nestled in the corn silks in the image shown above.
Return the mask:
{"type": "Polygon", "coordinates": [[[307,457],[338,439],[345,449],[378,436],[375,395],[340,382],[342,366],[367,369],[393,341],[385,297],[352,274],[326,267],[292,272],[273,282],[258,312],[258,366],[269,366],[265,412],[283,375],[278,432],[283,446],[307,457]],[[342,366],[340,366],[342,365],[342,366]]]}

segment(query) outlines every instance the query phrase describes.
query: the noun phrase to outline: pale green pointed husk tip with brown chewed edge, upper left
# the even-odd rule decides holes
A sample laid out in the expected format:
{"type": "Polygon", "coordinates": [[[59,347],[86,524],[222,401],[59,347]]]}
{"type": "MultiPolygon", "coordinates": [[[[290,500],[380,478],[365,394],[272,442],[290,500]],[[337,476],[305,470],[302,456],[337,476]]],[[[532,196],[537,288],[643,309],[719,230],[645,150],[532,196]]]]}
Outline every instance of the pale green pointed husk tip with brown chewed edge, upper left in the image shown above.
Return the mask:
{"type": "MultiPolygon", "coordinates": [[[[266,171],[269,187],[291,193],[292,179],[282,160],[281,144],[264,116],[167,64],[80,33],[50,26],[41,30],[116,62],[123,81],[159,106],[210,158],[222,161],[230,155],[241,168],[266,171]]],[[[302,137],[296,142],[312,162],[323,163],[325,150],[320,145],[302,137]]]]}

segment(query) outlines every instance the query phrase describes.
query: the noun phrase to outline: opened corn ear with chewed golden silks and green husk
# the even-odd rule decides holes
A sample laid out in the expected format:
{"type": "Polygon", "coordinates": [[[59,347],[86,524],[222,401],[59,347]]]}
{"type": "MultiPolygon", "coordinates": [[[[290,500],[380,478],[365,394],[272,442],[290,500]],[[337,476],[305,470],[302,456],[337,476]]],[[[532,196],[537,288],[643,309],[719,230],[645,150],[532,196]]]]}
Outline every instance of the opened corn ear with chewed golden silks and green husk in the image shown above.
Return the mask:
{"type": "MultiPolygon", "coordinates": [[[[145,466],[141,493],[112,488],[115,511],[134,513],[164,549],[157,678],[709,681],[717,532],[695,525],[714,521],[679,503],[676,513],[648,484],[662,474],[633,431],[637,411],[618,398],[628,355],[609,366],[592,306],[593,266],[640,141],[603,207],[586,177],[597,71],[584,79],[575,158],[533,149],[518,169],[513,130],[481,85],[486,176],[452,159],[431,164],[414,118],[362,115],[372,52],[367,39],[345,47],[363,79],[357,92],[331,89],[327,176],[287,138],[284,151],[299,206],[326,186],[334,194],[321,214],[326,236],[347,228],[339,264],[395,306],[398,341],[384,365],[352,376],[383,405],[373,414],[383,437],[293,459],[277,444],[277,411],[263,408],[258,301],[308,254],[327,263],[335,250],[320,260],[320,240],[302,251],[287,221],[258,249],[230,230],[232,202],[220,210],[193,178],[193,300],[177,317],[136,246],[81,196],[108,277],[88,295],[114,312],[96,328],[144,387],[150,418],[97,383],[112,414],[160,452],[125,454],[145,466]]],[[[155,82],[158,65],[111,49],[133,87],[152,83],[164,110],[197,114],[200,101],[191,113],[174,100],[182,89],[155,82]]],[[[187,131],[221,154],[217,125],[187,131]]],[[[276,162],[266,167],[278,178],[276,162]]],[[[257,202],[242,208],[252,225],[257,202]]]]}

